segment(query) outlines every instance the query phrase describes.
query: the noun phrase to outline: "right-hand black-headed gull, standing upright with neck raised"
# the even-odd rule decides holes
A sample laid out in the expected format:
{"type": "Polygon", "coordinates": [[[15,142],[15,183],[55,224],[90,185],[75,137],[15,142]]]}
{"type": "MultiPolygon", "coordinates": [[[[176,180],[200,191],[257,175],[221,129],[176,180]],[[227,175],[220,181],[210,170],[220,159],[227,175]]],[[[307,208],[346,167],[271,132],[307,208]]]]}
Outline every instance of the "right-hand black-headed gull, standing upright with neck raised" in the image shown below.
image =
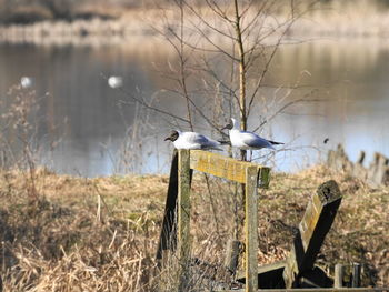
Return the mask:
{"type": "Polygon", "coordinates": [[[253,132],[240,130],[239,123],[233,118],[231,118],[231,122],[227,124],[222,130],[225,129],[229,130],[231,145],[239,149],[258,150],[262,148],[269,148],[275,150],[273,145],[283,144],[280,142],[263,139],[253,132]]]}

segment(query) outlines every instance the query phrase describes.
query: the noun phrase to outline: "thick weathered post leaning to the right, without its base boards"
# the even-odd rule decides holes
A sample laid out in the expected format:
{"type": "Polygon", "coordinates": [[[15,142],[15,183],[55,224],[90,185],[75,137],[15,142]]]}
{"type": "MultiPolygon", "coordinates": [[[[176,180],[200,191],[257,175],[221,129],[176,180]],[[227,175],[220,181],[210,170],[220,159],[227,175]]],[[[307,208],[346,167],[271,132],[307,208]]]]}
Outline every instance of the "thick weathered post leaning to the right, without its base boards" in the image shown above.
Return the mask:
{"type": "Polygon", "coordinates": [[[332,225],[340,202],[339,187],[332,180],[321,184],[312,195],[283,270],[286,288],[296,286],[297,279],[313,268],[316,256],[332,225]]]}

